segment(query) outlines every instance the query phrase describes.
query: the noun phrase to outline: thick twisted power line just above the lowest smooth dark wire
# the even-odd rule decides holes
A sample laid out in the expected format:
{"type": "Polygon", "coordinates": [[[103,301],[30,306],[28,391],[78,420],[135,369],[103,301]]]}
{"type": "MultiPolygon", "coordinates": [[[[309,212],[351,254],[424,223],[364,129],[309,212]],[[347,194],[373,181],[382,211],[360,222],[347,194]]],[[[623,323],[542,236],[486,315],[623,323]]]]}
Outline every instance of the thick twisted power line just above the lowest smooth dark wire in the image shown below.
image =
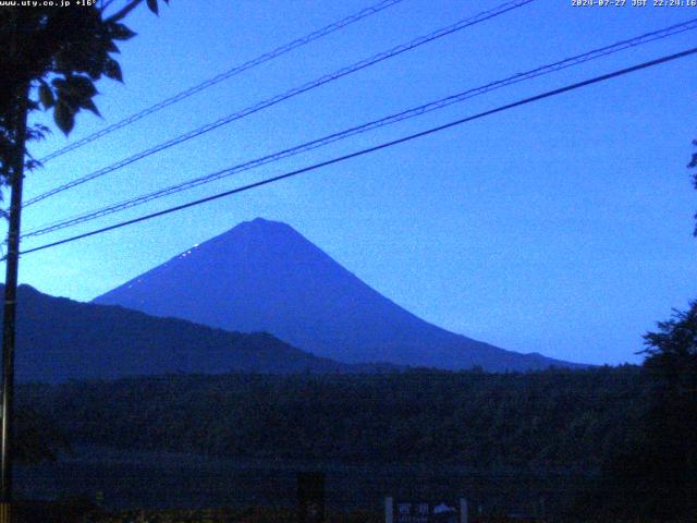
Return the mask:
{"type": "Polygon", "coordinates": [[[188,180],[186,182],[182,182],[182,183],[178,183],[174,185],[170,185],[168,187],[164,188],[160,188],[150,193],[146,193],[133,198],[129,198],[125,200],[122,200],[120,203],[117,204],[112,204],[109,205],[107,207],[102,207],[96,210],[91,210],[88,211],[86,214],[82,214],[82,215],[77,215],[77,216],[73,216],[71,218],[65,218],[62,220],[58,220],[58,221],[53,221],[51,223],[48,224],[44,224],[40,226],[34,230],[30,230],[28,232],[26,232],[25,234],[22,235],[23,239],[25,238],[32,238],[32,236],[39,236],[42,234],[48,234],[50,232],[54,232],[68,227],[73,227],[76,226],[78,223],[84,223],[86,221],[91,221],[95,220],[97,218],[102,218],[105,216],[114,214],[114,212],[119,212],[121,210],[125,210],[132,207],[136,207],[138,205],[143,205],[146,204],[148,202],[151,202],[154,199],[159,199],[161,197],[164,196],[169,196],[175,193],[180,193],[182,191],[188,190],[188,188],[193,188],[196,187],[198,185],[203,185],[205,183],[210,183],[233,174],[237,174],[247,170],[252,170],[268,163],[272,163],[276,161],[280,161],[282,159],[298,155],[301,153],[305,153],[308,150],[313,150],[319,147],[322,147],[325,145],[329,145],[333,142],[338,142],[341,139],[345,139],[347,137],[357,135],[357,134],[363,134],[365,132],[381,127],[381,126],[386,126],[386,125],[390,125],[396,122],[401,122],[403,120],[407,120],[411,118],[415,118],[418,117],[420,114],[425,114],[427,112],[431,112],[438,109],[442,109],[445,107],[449,107],[453,104],[456,102],[462,102],[465,101],[469,98],[474,98],[475,96],[479,96],[486,93],[489,93],[491,90],[501,88],[501,87],[505,87],[508,85],[512,85],[512,84],[516,84],[518,82],[523,82],[526,80],[530,80],[530,78],[535,78],[537,76],[542,76],[546,74],[550,74],[552,72],[557,72],[573,65],[577,65],[580,63],[585,63],[587,61],[590,60],[595,60],[598,58],[602,58],[606,57],[608,54],[612,54],[615,52],[619,52],[621,50],[627,49],[627,48],[633,48],[639,45],[644,45],[644,44],[648,44],[650,41],[655,41],[658,39],[662,39],[662,38],[668,38],[670,36],[675,36],[676,34],[681,34],[684,33],[686,31],[693,31],[697,28],[697,19],[693,19],[686,22],[683,22],[681,24],[675,24],[672,25],[670,27],[665,27],[663,29],[659,29],[659,31],[653,31],[650,33],[646,33],[644,35],[637,36],[635,38],[631,38],[631,39],[626,39],[626,40],[622,40],[619,42],[615,42],[611,46],[606,46],[599,49],[595,49],[588,52],[585,52],[583,54],[578,54],[572,58],[567,58],[548,65],[542,65],[540,68],[534,69],[531,71],[527,71],[525,73],[517,73],[513,76],[509,76],[508,78],[504,80],[499,80],[496,82],[491,82],[489,84],[486,84],[481,87],[476,87],[473,89],[468,89],[465,90],[463,93],[458,93],[456,95],[452,95],[445,98],[441,98],[439,100],[436,101],[430,101],[428,104],[412,108],[412,109],[407,109],[405,111],[399,112],[396,114],[391,114],[389,117],[384,117],[381,118],[379,120],[374,120],[371,122],[365,123],[363,125],[358,125],[358,126],[354,126],[351,129],[347,129],[345,131],[339,132],[339,133],[333,133],[330,134],[328,136],[323,136],[321,138],[317,138],[314,139],[311,142],[307,142],[301,145],[297,145],[295,147],[291,147],[278,153],[273,153],[271,155],[266,155],[264,157],[260,158],[256,158],[254,160],[249,160],[246,161],[244,163],[240,163],[237,166],[228,168],[228,169],[223,169],[220,171],[216,171],[209,174],[206,174],[204,177],[198,177],[195,178],[193,180],[188,180]]]}

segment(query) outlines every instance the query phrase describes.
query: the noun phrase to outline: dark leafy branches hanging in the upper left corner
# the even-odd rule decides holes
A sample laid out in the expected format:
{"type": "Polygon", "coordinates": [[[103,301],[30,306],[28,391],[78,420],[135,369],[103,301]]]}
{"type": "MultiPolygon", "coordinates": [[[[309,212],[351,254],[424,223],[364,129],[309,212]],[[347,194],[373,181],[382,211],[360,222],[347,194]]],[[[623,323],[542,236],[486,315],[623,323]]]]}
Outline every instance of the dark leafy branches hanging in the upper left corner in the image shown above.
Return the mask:
{"type": "MultiPolygon", "coordinates": [[[[95,82],[101,77],[123,81],[114,58],[117,44],[135,36],[123,19],[143,1],[124,0],[113,14],[107,12],[113,0],[71,9],[45,2],[0,8],[0,182],[11,174],[23,105],[29,112],[52,111],[56,125],[65,134],[81,111],[99,114],[95,82]]],[[[157,0],[146,3],[158,12],[157,0]]],[[[30,126],[26,138],[40,138],[47,131],[30,126]]],[[[34,165],[29,161],[29,167],[34,165]]]]}

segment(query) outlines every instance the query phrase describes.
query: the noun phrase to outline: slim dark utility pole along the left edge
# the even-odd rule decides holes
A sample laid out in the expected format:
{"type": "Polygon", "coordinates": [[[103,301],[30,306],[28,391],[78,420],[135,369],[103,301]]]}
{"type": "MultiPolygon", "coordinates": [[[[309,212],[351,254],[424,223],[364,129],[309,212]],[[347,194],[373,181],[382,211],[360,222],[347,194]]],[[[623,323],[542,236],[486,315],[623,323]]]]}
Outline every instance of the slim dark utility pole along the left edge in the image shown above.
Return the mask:
{"type": "Polygon", "coordinates": [[[2,324],[2,422],[0,426],[0,523],[11,523],[12,511],[12,458],[14,439],[14,338],[17,295],[17,268],[20,263],[20,226],[22,218],[22,184],[24,182],[24,156],[26,150],[26,120],[28,112],[29,83],[24,78],[19,60],[21,39],[20,21],[16,11],[15,37],[10,50],[10,73],[19,82],[11,96],[15,107],[14,155],[10,166],[10,216],[8,224],[8,254],[5,256],[4,311],[2,324]],[[19,76],[19,77],[17,77],[19,76]]]}

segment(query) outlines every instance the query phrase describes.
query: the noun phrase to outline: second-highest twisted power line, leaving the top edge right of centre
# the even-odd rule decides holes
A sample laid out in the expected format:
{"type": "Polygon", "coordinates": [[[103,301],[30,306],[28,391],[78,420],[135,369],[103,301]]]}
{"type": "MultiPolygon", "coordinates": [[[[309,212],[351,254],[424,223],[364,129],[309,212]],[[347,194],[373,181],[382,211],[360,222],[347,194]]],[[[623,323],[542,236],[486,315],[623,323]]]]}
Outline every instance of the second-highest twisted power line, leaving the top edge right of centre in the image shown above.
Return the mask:
{"type": "Polygon", "coordinates": [[[239,112],[234,112],[232,114],[229,114],[227,117],[223,117],[219,120],[216,120],[215,122],[208,123],[206,125],[203,125],[198,129],[195,129],[193,131],[189,131],[185,134],[182,134],[175,138],[169,139],[167,142],[163,142],[159,145],[156,145],[155,147],[151,147],[149,149],[143,150],[140,153],[137,153],[129,158],[125,158],[123,160],[120,160],[115,163],[112,163],[109,167],[106,167],[103,169],[100,169],[98,171],[91,172],[89,174],[86,174],[82,178],[78,178],[76,180],[73,180],[72,182],[68,182],[63,185],[60,185],[58,187],[54,187],[50,191],[47,191],[42,194],[39,194],[38,196],[35,196],[34,198],[28,199],[25,204],[24,207],[28,207],[29,205],[33,205],[37,202],[40,202],[45,198],[48,198],[49,196],[53,196],[58,193],[62,193],[63,191],[66,191],[69,188],[72,188],[74,186],[81,185],[85,182],[88,182],[90,180],[94,180],[96,178],[102,177],[105,174],[108,174],[110,172],[113,172],[118,169],[121,169],[125,166],[129,166],[135,161],[142,160],[143,158],[147,158],[148,156],[151,156],[156,153],[160,153],[164,149],[168,149],[170,147],[173,147],[174,145],[179,145],[183,142],[186,142],[188,139],[195,138],[196,136],[199,136],[201,134],[208,133],[210,131],[213,131],[218,127],[221,127],[222,125],[227,125],[235,120],[240,120],[242,118],[248,117],[249,114],[253,114],[255,112],[258,112],[262,109],[266,109],[268,107],[274,106],[277,104],[280,104],[282,101],[288,100],[289,98],[293,98],[297,95],[301,95],[303,93],[306,93],[308,90],[315,89],[321,85],[325,85],[327,83],[333,82],[335,80],[339,80],[343,76],[346,76],[348,74],[355,73],[357,71],[360,71],[363,69],[369,68],[371,65],[375,65],[376,63],[382,62],[383,60],[396,57],[399,54],[402,54],[403,52],[406,51],[411,51],[413,49],[416,49],[419,46],[423,46],[424,44],[428,44],[429,41],[433,41],[440,38],[443,38],[448,35],[451,35],[453,33],[456,33],[458,31],[462,31],[466,27],[470,27],[473,25],[479,24],[481,22],[485,22],[487,20],[493,19],[496,16],[499,16],[508,11],[512,11],[514,9],[518,9],[527,3],[533,2],[534,0],[514,0],[512,2],[506,2],[503,3],[494,9],[488,10],[488,11],[484,11],[479,14],[477,14],[476,16],[469,17],[469,19],[465,19],[462,20],[453,25],[450,25],[448,27],[438,29],[433,33],[430,33],[426,36],[421,36],[418,38],[415,38],[414,40],[412,40],[408,44],[403,44],[401,46],[396,46],[388,51],[384,52],[380,52],[371,58],[368,58],[366,60],[362,60],[359,62],[354,63],[353,65],[348,65],[347,68],[343,68],[340,69],[339,71],[335,71],[331,74],[327,74],[325,76],[321,76],[318,80],[315,80],[313,82],[308,82],[304,85],[302,85],[301,87],[295,87],[291,90],[288,90],[286,93],[282,94],[282,95],[277,95],[272,98],[269,98],[267,100],[260,101],[254,106],[249,106],[239,112]]]}

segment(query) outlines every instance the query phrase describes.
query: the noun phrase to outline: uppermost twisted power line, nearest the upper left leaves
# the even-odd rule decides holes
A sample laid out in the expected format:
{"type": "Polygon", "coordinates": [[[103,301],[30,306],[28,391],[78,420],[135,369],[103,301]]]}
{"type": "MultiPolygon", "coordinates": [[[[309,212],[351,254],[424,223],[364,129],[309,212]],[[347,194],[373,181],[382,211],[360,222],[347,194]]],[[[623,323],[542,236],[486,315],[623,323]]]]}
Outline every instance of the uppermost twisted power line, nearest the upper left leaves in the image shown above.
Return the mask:
{"type": "Polygon", "coordinates": [[[209,78],[205,82],[201,82],[198,85],[195,85],[193,87],[189,87],[181,93],[178,93],[176,95],[167,98],[154,106],[150,106],[146,109],[143,109],[139,112],[136,112],[134,114],[131,114],[130,117],[124,118],[123,120],[113,123],[105,129],[101,129],[93,134],[90,134],[89,136],[85,136],[84,138],[78,139],[77,142],[74,142],[61,149],[54,150],[53,153],[49,154],[48,156],[41,158],[39,161],[41,163],[46,163],[49,160],[52,160],[53,158],[58,158],[59,156],[64,155],[65,153],[70,153],[71,150],[75,150],[80,147],[82,147],[83,145],[87,145],[87,144],[91,144],[94,143],[96,139],[101,138],[102,136],[106,136],[119,129],[125,127],[126,125],[132,124],[133,122],[136,122],[138,120],[144,119],[145,117],[148,117],[161,109],[164,109],[166,107],[169,107],[173,104],[176,104],[179,101],[184,100],[185,98],[188,98],[189,96],[193,96],[197,93],[200,93],[204,89],[207,89],[208,87],[212,87],[216,84],[219,84],[220,82],[231,78],[232,76],[236,76],[237,74],[243,73],[244,71],[247,71],[252,68],[255,68],[257,65],[260,65],[265,62],[271,61],[274,58],[278,58],[282,54],[285,54],[288,52],[291,52],[299,47],[306,46],[307,44],[318,40],[327,35],[330,35],[332,33],[335,33],[337,31],[343,29],[344,27],[358,22],[363,19],[366,19],[372,14],[379,13],[380,11],[383,11],[388,8],[391,8],[392,5],[402,2],[403,0],[383,0],[379,3],[376,3],[375,5],[371,5],[369,8],[366,8],[362,11],[358,11],[355,14],[352,14],[350,16],[346,16],[345,19],[340,20],[339,22],[334,22],[333,24],[330,24],[326,27],[322,27],[321,29],[317,29],[313,33],[310,33],[309,35],[306,35],[302,38],[297,38],[296,40],[293,40],[289,44],[285,44],[283,46],[277,47],[276,49],[273,49],[272,51],[266,52],[264,54],[258,56],[257,58],[254,58],[247,62],[244,62],[241,65],[235,65],[234,68],[220,73],[217,76],[213,76],[212,78],[209,78]]]}

